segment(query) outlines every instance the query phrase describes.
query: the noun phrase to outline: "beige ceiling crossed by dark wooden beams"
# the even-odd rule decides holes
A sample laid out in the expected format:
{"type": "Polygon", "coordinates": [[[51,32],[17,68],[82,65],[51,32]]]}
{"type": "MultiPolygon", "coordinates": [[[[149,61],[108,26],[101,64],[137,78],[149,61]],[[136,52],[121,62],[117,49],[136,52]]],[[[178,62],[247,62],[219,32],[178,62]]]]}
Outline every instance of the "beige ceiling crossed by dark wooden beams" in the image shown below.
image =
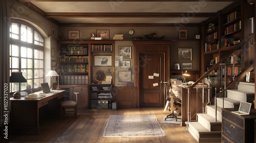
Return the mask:
{"type": "Polygon", "coordinates": [[[239,0],[21,0],[59,26],[195,26],[239,0]]]}

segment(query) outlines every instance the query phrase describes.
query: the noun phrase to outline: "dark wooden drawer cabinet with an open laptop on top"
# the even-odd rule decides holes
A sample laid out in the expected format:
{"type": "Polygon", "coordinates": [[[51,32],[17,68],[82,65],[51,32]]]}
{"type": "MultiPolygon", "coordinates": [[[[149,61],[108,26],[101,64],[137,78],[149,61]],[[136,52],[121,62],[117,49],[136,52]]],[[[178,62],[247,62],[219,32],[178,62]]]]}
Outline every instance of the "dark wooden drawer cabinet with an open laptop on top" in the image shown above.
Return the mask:
{"type": "Polygon", "coordinates": [[[250,110],[250,115],[237,115],[231,111],[238,108],[222,109],[222,142],[254,142],[254,120],[256,110],[250,110]]]}

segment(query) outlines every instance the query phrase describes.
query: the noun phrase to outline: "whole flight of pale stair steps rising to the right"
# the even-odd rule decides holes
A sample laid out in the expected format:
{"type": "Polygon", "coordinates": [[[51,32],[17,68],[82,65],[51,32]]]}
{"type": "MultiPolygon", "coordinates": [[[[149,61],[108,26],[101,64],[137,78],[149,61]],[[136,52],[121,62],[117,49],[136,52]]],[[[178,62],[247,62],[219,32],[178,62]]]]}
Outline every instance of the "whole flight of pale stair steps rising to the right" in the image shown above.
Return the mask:
{"type": "MultiPolygon", "coordinates": [[[[240,101],[253,103],[254,83],[239,82],[238,89],[228,89],[224,108],[239,107],[240,101]]],[[[207,105],[206,113],[198,113],[198,122],[189,122],[188,131],[198,142],[221,142],[223,98],[217,98],[217,122],[215,105],[207,105]]]]}

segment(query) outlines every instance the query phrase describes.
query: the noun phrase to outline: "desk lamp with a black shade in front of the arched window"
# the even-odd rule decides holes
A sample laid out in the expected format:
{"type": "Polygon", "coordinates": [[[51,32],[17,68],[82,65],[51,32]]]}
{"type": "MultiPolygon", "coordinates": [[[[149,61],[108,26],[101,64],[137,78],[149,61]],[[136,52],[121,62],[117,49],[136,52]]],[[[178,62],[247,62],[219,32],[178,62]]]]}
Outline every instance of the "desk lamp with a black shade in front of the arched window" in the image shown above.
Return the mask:
{"type": "Polygon", "coordinates": [[[27,82],[27,80],[23,77],[22,72],[20,71],[15,71],[11,73],[10,77],[10,83],[19,83],[18,84],[18,89],[14,94],[13,94],[13,99],[20,99],[20,83],[22,82],[27,82]],[[19,91],[19,92],[18,92],[19,91]]]}

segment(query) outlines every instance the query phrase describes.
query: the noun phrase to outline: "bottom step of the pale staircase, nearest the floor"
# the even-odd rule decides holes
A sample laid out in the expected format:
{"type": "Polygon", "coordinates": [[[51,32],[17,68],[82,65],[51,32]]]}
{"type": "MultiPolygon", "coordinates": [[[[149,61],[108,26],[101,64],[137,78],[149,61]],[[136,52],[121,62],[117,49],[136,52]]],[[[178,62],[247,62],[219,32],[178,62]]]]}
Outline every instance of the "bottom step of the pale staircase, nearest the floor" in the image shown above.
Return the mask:
{"type": "Polygon", "coordinates": [[[189,122],[188,131],[198,142],[221,142],[221,131],[209,131],[199,122],[189,122]]]}

